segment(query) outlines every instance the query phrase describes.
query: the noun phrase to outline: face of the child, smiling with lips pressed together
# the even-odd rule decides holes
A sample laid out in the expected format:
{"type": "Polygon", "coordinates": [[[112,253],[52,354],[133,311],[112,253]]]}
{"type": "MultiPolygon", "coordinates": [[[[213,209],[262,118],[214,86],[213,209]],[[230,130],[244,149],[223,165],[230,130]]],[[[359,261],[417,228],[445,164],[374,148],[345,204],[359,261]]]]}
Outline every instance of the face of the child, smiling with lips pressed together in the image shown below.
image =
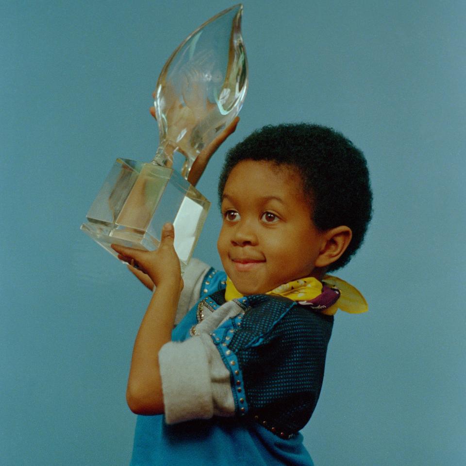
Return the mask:
{"type": "Polygon", "coordinates": [[[323,241],[296,169],[267,161],[236,165],[223,190],[217,247],[242,294],[260,294],[316,274],[323,241]]]}

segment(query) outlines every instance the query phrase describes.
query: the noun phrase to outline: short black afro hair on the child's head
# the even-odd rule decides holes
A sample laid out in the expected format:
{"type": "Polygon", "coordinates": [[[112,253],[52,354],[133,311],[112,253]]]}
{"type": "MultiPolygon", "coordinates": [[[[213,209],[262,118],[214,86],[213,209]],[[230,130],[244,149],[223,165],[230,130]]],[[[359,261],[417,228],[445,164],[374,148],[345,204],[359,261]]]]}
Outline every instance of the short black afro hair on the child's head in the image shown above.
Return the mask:
{"type": "Polygon", "coordinates": [[[269,161],[296,168],[320,231],[346,225],[351,242],[329,265],[346,265],[361,246],[372,217],[372,191],[366,158],[341,133],[317,124],[267,125],[230,149],[218,183],[220,204],[231,171],[242,160],[269,161]]]}

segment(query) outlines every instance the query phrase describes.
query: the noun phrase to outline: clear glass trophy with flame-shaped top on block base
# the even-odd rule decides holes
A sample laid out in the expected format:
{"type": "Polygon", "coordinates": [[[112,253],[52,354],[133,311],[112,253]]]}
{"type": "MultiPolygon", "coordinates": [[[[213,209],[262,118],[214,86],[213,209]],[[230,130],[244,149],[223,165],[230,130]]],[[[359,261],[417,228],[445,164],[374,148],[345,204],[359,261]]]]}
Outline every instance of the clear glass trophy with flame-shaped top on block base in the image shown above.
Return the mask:
{"type": "Polygon", "coordinates": [[[248,88],[242,12],[239,4],[209,19],[162,69],[154,93],[160,136],[155,158],[116,159],[81,225],[114,256],[112,243],[157,249],[162,226],[170,222],[182,270],[191,258],[210,202],[187,181],[189,171],[239,113],[248,88]]]}

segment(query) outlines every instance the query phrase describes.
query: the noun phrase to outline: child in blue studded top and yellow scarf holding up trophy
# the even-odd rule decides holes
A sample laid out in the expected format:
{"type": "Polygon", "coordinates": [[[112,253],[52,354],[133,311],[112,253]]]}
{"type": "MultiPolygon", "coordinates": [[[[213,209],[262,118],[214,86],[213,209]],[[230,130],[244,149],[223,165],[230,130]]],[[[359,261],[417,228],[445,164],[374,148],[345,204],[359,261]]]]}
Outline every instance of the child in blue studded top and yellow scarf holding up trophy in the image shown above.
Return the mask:
{"type": "Polygon", "coordinates": [[[130,408],[146,414],[132,465],[312,465],[299,431],[319,397],[333,314],[366,311],[326,275],[363,241],[366,160],[330,128],[266,126],[227,154],[218,192],[226,274],[193,260],[181,299],[201,299],[173,332],[183,280],[172,225],[157,251],[114,246],[156,285],[128,381],[130,408]]]}

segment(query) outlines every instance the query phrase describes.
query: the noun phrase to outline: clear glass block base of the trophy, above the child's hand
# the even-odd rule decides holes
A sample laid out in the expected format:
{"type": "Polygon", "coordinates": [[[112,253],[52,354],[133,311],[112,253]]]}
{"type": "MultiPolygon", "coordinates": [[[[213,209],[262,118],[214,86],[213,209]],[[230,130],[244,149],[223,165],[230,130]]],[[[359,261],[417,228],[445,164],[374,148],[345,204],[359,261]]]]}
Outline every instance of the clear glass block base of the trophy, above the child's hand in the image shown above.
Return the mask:
{"type": "Polygon", "coordinates": [[[160,244],[162,226],[172,223],[183,271],[209,207],[210,202],[173,169],[118,158],[81,229],[117,257],[110,244],[153,251],[160,244]]]}

